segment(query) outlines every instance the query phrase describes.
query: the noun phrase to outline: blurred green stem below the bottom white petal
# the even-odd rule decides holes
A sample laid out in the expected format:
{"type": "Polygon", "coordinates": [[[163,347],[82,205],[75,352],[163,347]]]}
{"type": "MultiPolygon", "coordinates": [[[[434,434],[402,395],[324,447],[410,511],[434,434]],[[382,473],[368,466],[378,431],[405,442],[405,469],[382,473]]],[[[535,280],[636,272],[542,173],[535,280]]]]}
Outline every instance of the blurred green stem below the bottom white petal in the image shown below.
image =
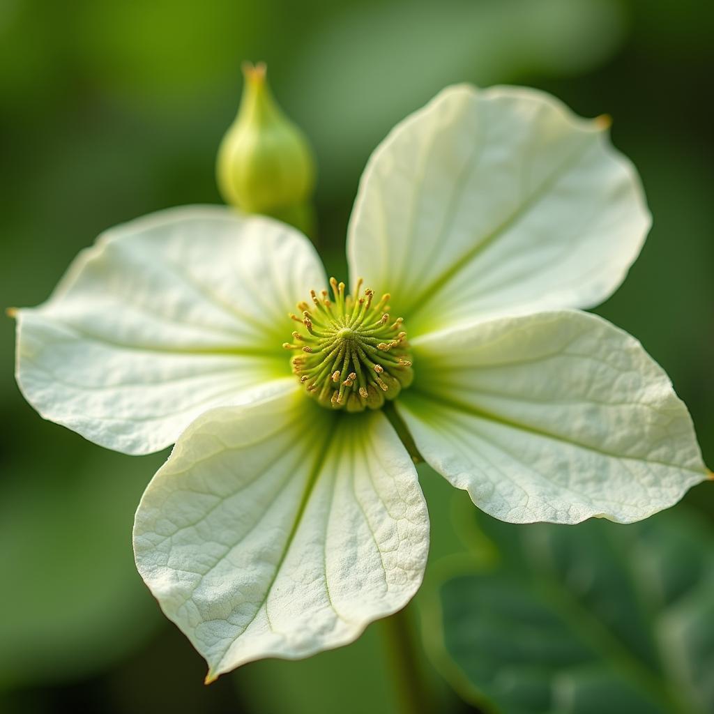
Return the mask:
{"type": "Polygon", "coordinates": [[[433,694],[417,656],[407,608],[379,620],[401,714],[434,714],[433,694]]]}

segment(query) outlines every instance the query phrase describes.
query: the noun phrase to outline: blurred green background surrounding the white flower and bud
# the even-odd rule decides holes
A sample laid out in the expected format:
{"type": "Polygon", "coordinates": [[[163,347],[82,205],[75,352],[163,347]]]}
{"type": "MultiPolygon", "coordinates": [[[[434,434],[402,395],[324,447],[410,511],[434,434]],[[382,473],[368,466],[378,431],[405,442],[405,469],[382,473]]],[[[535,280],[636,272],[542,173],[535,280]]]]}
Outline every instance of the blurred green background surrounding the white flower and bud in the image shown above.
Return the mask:
{"type": "MultiPolygon", "coordinates": [[[[457,81],[537,86],[579,114],[613,116],[613,141],[640,170],[654,228],[598,312],[668,371],[711,466],[712,19],[695,0],[0,0],[0,306],[44,301],[77,251],[114,223],[220,202],[215,152],[244,59],[268,63],[278,101],[313,143],[319,241],[341,277],[358,177],[396,121],[457,81]]],[[[203,660],[161,617],[131,554],[134,508],[166,455],[109,453],[42,421],[13,366],[14,324],[4,319],[0,710],[395,710],[376,625],[348,648],[253,663],[204,688],[203,660]]],[[[464,549],[454,514],[471,506],[428,468],[420,474],[433,546],[416,605],[429,643],[438,628],[430,583],[440,558],[464,549]]],[[[712,488],[685,501],[710,528],[712,488]]],[[[499,538],[476,557],[510,542],[499,538]]],[[[711,633],[714,620],[702,626],[711,633]]],[[[425,676],[446,691],[436,660],[424,661],[425,676]]],[[[444,707],[470,710],[444,697],[444,707]]]]}

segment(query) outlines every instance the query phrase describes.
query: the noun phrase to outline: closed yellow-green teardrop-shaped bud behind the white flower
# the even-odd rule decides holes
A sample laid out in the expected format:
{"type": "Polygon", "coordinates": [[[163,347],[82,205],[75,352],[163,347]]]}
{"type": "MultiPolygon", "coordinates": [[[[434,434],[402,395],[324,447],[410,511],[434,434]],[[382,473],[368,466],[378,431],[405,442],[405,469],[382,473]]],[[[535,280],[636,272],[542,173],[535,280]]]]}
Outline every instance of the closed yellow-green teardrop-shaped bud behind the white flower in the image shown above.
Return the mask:
{"type": "Polygon", "coordinates": [[[265,64],[243,64],[238,116],[218,149],[218,189],[247,213],[266,213],[309,232],[315,166],[306,137],[273,99],[265,64]]]}

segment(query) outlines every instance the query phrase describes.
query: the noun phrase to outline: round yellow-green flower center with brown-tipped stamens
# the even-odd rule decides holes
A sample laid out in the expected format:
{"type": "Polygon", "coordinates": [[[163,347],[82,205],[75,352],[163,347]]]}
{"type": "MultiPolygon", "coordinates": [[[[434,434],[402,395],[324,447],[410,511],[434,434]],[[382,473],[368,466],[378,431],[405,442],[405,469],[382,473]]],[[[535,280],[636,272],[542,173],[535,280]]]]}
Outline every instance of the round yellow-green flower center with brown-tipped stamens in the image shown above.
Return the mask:
{"type": "Polygon", "coordinates": [[[354,296],[335,278],[330,286],[333,300],[313,290],[312,306],[298,304],[302,317],[291,318],[301,327],[283,347],[300,351],[291,358],[293,372],[322,406],[378,409],[413,379],[403,320],[390,318],[388,294],[376,302],[369,289],[361,296],[361,280],[354,296]]]}

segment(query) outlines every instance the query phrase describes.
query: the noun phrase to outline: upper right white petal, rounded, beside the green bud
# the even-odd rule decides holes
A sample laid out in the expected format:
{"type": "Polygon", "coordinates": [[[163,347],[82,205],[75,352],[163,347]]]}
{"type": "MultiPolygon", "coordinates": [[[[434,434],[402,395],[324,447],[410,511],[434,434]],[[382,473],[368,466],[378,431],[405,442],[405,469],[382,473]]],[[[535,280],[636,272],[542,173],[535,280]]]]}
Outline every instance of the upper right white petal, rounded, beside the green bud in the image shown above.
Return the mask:
{"type": "Polygon", "coordinates": [[[410,334],[600,303],[650,226],[606,126],[533,89],[444,90],[368,162],[352,279],[390,292],[410,334]]]}

